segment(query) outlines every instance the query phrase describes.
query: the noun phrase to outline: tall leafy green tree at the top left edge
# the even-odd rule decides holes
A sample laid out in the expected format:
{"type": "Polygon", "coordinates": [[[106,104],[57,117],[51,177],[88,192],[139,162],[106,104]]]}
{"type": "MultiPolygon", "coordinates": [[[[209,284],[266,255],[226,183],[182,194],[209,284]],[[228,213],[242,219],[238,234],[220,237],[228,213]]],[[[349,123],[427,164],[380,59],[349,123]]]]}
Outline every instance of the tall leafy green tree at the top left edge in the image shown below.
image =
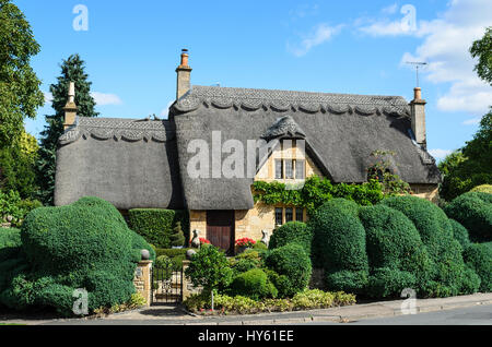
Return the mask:
{"type": "Polygon", "coordinates": [[[39,45],[24,14],[10,0],[0,0],[0,148],[11,147],[44,104],[40,81],[30,65],[39,45]]]}

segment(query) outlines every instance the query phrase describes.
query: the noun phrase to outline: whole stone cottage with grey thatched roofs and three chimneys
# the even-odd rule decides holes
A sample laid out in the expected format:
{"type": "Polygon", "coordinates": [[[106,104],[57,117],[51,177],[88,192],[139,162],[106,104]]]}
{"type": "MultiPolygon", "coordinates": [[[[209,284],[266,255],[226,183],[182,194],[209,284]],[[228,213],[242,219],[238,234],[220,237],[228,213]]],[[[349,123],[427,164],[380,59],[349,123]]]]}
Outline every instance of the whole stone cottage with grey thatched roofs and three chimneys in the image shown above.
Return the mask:
{"type": "Polygon", "coordinates": [[[294,206],[255,204],[254,180],[302,182],[316,174],[364,182],[378,149],[395,153],[391,170],[418,195],[436,196],[440,172],[426,152],[420,88],[408,103],[400,96],[191,86],[186,51],[176,72],[167,120],[77,117],[70,88],[56,205],[95,195],[122,213],[187,208],[191,230],[230,249],[235,239],[259,239],[261,230],[306,219],[294,206]],[[259,156],[259,147],[251,148],[259,140],[279,145],[259,156]]]}

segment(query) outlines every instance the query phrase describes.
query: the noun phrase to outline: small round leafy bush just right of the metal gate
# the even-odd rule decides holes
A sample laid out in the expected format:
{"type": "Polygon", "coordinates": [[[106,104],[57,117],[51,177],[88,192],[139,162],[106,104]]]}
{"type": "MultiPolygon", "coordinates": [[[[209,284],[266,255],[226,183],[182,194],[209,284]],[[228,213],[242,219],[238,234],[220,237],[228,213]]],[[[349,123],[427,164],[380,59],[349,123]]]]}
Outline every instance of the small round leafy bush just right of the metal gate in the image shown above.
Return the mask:
{"type": "Polygon", "coordinates": [[[225,254],[214,246],[202,246],[185,273],[196,287],[202,286],[208,294],[227,287],[233,275],[225,254]]]}

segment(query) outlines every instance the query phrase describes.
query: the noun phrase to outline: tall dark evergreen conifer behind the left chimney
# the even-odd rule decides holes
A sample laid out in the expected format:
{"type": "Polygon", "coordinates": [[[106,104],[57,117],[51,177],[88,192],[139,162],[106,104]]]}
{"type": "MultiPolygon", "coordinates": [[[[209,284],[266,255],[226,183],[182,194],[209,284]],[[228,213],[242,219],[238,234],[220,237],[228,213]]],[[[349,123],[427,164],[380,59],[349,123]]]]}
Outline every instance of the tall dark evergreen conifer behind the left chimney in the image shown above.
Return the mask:
{"type": "Polygon", "coordinates": [[[45,205],[52,205],[55,191],[56,153],[58,137],[63,133],[63,107],[68,100],[69,83],[75,83],[75,104],[79,117],[97,117],[95,101],[91,96],[91,82],[85,73],[85,63],[79,55],[72,55],[63,60],[61,75],[58,83],[51,84],[49,92],[52,95],[51,107],[55,115],[45,116],[47,125],[40,133],[38,160],[36,163],[37,183],[39,187],[38,199],[45,205]]]}

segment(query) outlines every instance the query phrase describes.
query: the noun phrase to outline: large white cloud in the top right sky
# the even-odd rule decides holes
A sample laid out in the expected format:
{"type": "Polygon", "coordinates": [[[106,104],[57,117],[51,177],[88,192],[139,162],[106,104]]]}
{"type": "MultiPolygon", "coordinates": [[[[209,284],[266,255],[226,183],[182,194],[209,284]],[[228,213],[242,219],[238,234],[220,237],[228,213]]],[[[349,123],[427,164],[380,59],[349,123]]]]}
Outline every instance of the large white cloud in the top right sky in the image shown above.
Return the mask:
{"type": "Polygon", "coordinates": [[[436,19],[418,21],[415,31],[403,31],[401,20],[389,19],[374,21],[359,29],[372,36],[421,37],[422,43],[413,53],[406,52],[401,63],[426,61],[429,64],[421,71],[427,81],[450,83],[449,89],[436,101],[440,110],[480,115],[492,104],[492,87],[475,73],[476,62],[469,48],[473,40],[483,36],[485,27],[492,25],[490,13],[490,0],[452,0],[436,19]]]}

